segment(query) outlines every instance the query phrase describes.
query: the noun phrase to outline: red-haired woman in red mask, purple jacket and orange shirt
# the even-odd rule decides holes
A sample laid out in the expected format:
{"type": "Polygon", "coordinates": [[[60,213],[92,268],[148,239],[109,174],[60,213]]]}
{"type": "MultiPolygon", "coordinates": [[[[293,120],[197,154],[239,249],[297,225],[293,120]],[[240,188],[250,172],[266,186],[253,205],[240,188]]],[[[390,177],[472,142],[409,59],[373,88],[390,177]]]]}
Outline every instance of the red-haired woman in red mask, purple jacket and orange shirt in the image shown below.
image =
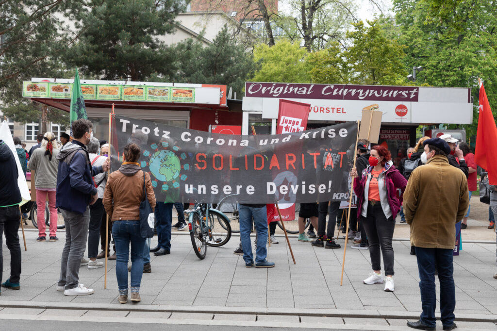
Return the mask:
{"type": "MultiPolygon", "coordinates": [[[[388,149],[377,145],[371,149],[369,165],[359,180],[354,181],[357,195],[357,217],[363,222],[369,241],[371,272],[364,284],[381,284],[385,282],[385,291],[394,291],[394,235],[395,217],[402,205],[402,194],[406,189],[406,178],[395,168],[388,149]],[[402,194],[397,197],[397,189],[402,194]],[[381,277],[381,253],[385,267],[385,280],[381,277]]],[[[357,169],[350,170],[351,176],[357,176],[357,169]]]]}

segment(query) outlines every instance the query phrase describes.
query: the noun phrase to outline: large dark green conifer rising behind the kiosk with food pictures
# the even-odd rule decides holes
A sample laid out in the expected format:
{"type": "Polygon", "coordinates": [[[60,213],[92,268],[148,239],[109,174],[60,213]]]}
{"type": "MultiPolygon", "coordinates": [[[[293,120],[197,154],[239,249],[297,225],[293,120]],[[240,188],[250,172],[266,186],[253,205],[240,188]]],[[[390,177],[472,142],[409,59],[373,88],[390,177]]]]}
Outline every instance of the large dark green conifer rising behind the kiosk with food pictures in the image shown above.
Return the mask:
{"type": "Polygon", "coordinates": [[[170,76],[177,56],[160,36],[174,31],[174,17],[188,1],[105,0],[88,3],[75,15],[81,34],[66,53],[83,75],[105,80],[145,81],[152,74],[170,76]]]}

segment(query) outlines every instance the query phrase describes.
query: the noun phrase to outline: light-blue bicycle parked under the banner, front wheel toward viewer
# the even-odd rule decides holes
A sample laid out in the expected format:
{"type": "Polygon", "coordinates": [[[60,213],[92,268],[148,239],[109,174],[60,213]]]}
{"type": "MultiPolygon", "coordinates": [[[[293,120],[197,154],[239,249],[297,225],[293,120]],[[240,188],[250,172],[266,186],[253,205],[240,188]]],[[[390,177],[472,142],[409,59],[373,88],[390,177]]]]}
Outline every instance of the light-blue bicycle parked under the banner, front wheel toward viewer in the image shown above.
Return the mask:
{"type": "Polygon", "coordinates": [[[211,204],[195,204],[193,210],[185,213],[188,214],[193,251],[198,258],[205,258],[207,246],[220,247],[230,240],[230,220],[219,210],[211,208],[211,204]]]}

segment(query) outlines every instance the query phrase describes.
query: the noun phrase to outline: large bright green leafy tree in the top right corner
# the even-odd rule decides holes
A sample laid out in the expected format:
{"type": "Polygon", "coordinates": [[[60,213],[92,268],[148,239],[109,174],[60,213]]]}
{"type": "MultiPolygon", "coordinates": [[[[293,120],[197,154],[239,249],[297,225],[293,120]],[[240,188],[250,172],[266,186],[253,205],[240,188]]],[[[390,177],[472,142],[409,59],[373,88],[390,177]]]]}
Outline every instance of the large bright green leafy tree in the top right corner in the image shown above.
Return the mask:
{"type": "MultiPolygon", "coordinates": [[[[394,0],[393,4],[400,42],[406,45],[406,65],[423,67],[416,84],[472,87],[473,124],[462,127],[467,136],[475,135],[479,77],[497,110],[497,1],[394,0]]],[[[456,127],[461,125],[451,126],[456,127]]]]}

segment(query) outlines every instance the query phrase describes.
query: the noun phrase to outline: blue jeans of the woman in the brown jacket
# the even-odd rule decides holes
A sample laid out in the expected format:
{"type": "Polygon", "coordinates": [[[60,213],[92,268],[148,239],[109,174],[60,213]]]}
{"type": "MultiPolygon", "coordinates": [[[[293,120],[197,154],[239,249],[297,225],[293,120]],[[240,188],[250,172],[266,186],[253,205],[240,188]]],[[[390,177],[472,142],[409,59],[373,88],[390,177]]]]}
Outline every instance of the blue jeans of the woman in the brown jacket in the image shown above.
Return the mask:
{"type": "Polygon", "coordinates": [[[114,221],[112,237],[116,244],[116,277],[120,294],[128,292],[128,258],[131,243],[131,292],[140,291],[143,274],[143,247],[140,221],[114,221]]]}

